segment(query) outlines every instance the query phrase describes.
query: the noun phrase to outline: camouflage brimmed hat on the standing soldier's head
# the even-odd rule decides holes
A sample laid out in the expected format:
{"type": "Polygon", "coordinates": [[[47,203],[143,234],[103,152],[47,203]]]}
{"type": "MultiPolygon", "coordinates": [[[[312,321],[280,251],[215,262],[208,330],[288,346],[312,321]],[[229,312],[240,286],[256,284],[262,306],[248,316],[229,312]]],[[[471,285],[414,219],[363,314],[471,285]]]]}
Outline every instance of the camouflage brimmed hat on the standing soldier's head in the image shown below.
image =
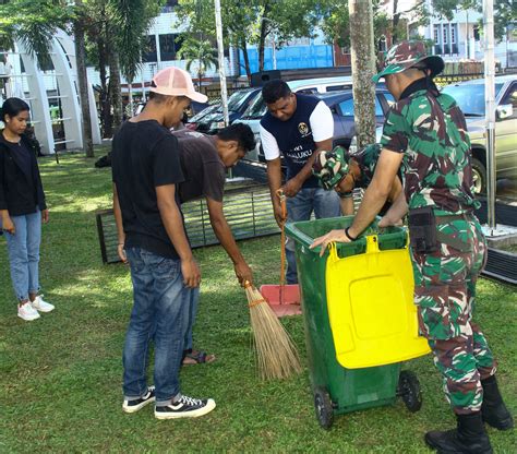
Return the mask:
{"type": "Polygon", "coordinates": [[[397,43],[384,55],[383,69],[372,77],[372,81],[377,83],[381,77],[387,74],[396,74],[406,71],[422,61],[425,62],[425,67],[431,70],[431,76],[440,74],[445,67],[442,57],[428,55],[423,41],[411,40],[397,43]]]}

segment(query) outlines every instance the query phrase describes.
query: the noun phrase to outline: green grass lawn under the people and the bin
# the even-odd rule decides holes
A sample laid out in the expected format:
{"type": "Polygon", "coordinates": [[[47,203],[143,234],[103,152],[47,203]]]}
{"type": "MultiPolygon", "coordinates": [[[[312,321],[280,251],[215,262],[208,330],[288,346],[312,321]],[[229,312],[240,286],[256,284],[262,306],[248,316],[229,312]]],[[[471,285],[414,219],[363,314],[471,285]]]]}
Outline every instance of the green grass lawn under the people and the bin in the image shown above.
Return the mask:
{"type": "MultiPolygon", "coordinates": [[[[94,213],[110,206],[110,170],[93,159],[40,160],[50,207],[44,226],[41,284],[57,309],[35,322],[16,316],[5,240],[0,237],[0,452],[341,452],[423,453],[422,435],[454,417],[430,356],[417,372],[423,406],[398,401],[337,417],[330,431],[314,417],[309,373],[287,382],[257,380],[247,299],[220,247],[195,251],[203,282],[195,345],[217,355],[181,372],[185,394],[214,397],[194,420],[158,421],[148,406],[122,413],[121,354],[131,311],[129,270],[103,265],[94,213]]],[[[279,237],[240,243],[257,283],[276,283],[279,237]]],[[[516,288],[481,279],[478,321],[500,360],[498,380],[517,413],[516,288]]],[[[302,319],[284,319],[306,363],[302,319]]],[[[516,453],[515,431],[489,429],[496,453],[516,453]]]]}

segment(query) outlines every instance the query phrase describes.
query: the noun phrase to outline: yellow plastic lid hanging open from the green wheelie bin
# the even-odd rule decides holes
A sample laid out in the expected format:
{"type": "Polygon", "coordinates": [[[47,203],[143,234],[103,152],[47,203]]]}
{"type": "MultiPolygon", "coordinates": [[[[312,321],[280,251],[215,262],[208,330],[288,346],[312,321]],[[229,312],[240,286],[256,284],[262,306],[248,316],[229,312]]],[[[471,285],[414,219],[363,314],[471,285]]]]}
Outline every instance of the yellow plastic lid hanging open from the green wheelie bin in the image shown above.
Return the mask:
{"type": "Polygon", "coordinates": [[[426,355],[418,334],[409,249],[380,250],[376,235],[366,251],[340,259],[330,246],[326,292],[338,362],[347,369],[406,361],[426,355]]]}

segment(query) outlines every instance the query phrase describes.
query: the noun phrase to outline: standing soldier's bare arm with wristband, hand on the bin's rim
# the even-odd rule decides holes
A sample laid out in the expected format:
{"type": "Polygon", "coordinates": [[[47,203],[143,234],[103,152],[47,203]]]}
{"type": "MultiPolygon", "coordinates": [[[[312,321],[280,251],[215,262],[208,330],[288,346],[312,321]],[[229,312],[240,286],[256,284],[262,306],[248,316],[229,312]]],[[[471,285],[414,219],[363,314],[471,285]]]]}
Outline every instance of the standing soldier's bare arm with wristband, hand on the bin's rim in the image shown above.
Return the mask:
{"type": "Polygon", "coordinates": [[[320,254],[323,255],[330,242],[350,242],[357,238],[375,218],[392,189],[392,183],[398,172],[404,154],[383,150],[378,157],[372,182],[364,192],[363,200],[359,206],[358,214],[352,225],[348,228],[348,237],[345,230],[330,230],[327,235],[316,238],[311,249],[322,246],[320,254]]]}

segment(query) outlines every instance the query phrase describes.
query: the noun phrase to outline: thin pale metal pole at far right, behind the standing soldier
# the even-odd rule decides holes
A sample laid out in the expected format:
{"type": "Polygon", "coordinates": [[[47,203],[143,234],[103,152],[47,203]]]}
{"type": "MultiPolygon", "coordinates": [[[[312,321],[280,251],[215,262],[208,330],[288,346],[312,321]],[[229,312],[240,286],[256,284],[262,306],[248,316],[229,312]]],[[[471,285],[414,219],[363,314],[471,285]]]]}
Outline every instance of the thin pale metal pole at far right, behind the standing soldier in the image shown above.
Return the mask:
{"type": "Polygon", "coordinates": [[[489,229],[495,229],[495,60],[494,0],[483,0],[484,99],[486,121],[486,202],[489,229]]]}

